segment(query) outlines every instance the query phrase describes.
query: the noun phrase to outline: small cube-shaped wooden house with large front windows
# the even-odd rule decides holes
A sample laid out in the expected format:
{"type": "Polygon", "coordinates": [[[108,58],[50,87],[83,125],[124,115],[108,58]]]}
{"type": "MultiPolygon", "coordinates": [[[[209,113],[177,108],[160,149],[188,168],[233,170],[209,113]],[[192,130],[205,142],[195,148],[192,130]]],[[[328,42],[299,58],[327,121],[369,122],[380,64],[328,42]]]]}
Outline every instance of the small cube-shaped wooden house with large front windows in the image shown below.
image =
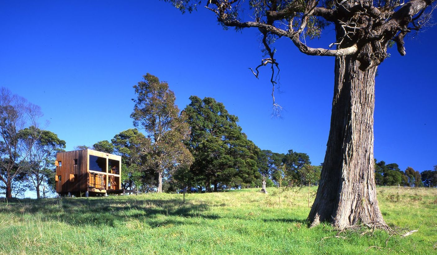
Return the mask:
{"type": "Polygon", "coordinates": [[[121,193],[121,156],[97,150],[73,150],[56,155],[59,195],[97,196],[121,193]]]}

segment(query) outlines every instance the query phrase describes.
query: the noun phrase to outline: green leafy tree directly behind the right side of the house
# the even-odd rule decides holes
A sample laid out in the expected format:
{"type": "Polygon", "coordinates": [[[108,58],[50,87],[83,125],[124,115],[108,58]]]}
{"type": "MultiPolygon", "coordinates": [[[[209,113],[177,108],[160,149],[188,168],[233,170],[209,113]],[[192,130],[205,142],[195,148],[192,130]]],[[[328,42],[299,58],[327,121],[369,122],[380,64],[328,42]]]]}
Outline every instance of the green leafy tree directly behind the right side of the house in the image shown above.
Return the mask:
{"type": "Polygon", "coordinates": [[[150,139],[138,129],[127,129],[111,140],[114,154],[121,156],[121,180],[124,189],[145,189],[154,185],[154,171],[146,163],[144,147],[150,147],[150,139]]]}

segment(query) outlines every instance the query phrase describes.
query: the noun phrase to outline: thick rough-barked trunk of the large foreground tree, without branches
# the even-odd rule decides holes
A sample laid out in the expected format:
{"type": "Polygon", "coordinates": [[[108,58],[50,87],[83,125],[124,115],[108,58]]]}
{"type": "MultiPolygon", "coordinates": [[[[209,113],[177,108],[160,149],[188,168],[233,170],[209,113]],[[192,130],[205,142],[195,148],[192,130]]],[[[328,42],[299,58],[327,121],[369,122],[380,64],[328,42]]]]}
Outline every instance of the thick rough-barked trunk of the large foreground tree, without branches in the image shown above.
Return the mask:
{"type": "MultiPolygon", "coordinates": [[[[370,47],[368,47],[368,50],[370,47]]],[[[360,70],[354,56],[336,57],[331,127],[311,226],[343,229],[384,224],[375,189],[373,112],[377,66],[360,70]]]]}

